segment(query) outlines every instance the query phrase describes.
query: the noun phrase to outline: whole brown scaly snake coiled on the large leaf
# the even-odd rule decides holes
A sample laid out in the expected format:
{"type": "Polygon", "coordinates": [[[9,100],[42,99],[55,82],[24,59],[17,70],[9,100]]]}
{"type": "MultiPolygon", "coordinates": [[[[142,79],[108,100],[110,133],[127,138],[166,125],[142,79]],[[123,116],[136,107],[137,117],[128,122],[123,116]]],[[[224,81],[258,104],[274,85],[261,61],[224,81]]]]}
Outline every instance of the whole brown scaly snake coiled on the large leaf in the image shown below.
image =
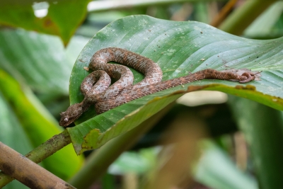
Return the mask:
{"type": "Polygon", "coordinates": [[[181,84],[187,84],[191,81],[202,79],[233,79],[243,84],[255,79],[252,71],[246,71],[239,75],[235,71],[204,69],[180,78],[161,81],[162,71],[158,64],[137,53],[117,47],[98,50],[91,58],[89,68],[96,71],[86,76],[81,83],[81,93],[84,96],[83,101],[71,105],[65,112],[62,112],[60,114],[59,125],[67,127],[71,122],[78,119],[91,104],[95,105],[96,113],[100,114],[142,96],[147,96],[151,93],[181,84]],[[107,64],[111,61],[137,69],[145,75],[144,79],[132,85],[132,71],[123,65],[107,64]],[[110,77],[119,80],[110,86],[110,77]]]}

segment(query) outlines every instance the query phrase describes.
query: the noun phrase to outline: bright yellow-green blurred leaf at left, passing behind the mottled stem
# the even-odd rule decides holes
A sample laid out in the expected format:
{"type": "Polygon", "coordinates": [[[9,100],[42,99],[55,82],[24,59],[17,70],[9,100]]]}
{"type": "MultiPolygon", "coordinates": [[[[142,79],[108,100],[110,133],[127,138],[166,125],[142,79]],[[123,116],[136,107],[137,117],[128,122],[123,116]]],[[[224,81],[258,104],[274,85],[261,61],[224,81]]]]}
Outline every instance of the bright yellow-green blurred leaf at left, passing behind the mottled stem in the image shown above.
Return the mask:
{"type": "MultiPolygon", "coordinates": [[[[0,91],[4,97],[3,101],[6,101],[11,107],[8,109],[3,108],[2,110],[1,106],[1,110],[11,115],[11,118],[8,119],[12,119],[12,116],[16,115],[22,127],[18,128],[15,125],[15,127],[9,127],[7,130],[8,125],[2,122],[0,127],[6,127],[6,130],[1,129],[0,137],[2,140],[3,133],[5,134],[4,136],[8,136],[10,140],[8,144],[11,144],[11,141],[13,141],[18,142],[18,145],[21,145],[21,147],[25,145],[19,152],[26,154],[30,150],[30,147],[27,146],[27,142],[25,141],[28,141],[34,148],[62,131],[56,120],[54,120],[40,102],[37,101],[37,98],[33,96],[29,88],[20,86],[11,76],[2,70],[0,70],[0,91]],[[21,131],[24,131],[24,133],[15,135],[21,131]],[[11,132],[14,134],[11,134],[11,132]],[[23,139],[23,137],[26,138],[23,139]],[[21,139],[21,141],[19,139],[21,139]]],[[[14,146],[15,145],[12,144],[12,147],[14,146]]],[[[81,166],[81,163],[81,157],[76,156],[71,145],[53,154],[48,159],[45,159],[45,161],[42,161],[42,164],[47,170],[62,179],[72,176],[81,166]]]]}

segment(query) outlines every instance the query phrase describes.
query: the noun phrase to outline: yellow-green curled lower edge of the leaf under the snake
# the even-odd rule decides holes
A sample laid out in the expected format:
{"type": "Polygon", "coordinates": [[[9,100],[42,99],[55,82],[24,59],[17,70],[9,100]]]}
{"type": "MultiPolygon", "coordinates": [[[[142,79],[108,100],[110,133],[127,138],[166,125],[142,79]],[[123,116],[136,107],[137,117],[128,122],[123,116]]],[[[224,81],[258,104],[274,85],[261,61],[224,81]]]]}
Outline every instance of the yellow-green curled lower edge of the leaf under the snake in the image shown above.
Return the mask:
{"type": "MultiPolygon", "coordinates": [[[[125,122],[127,120],[130,120],[133,118],[133,116],[137,116],[141,110],[145,110],[147,106],[153,105],[155,103],[158,103],[159,101],[162,101],[166,98],[172,98],[172,101],[175,101],[177,98],[182,96],[185,93],[189,93],[192,91],[202,91],[202,90],[207,90],[207,91],[221,91],[224,93],[229,93],[234,96],[238,96],[241,98],[248,98],[252,101],[256,101],[258,103],[262,103],[264,105],[270,106],[271,108],[275,108],[277,110],[283,110],[283,99],[276,97],[276,96],[270,96],[265,93],[261,93],[259,91],[256,91],[255,86],[253,85],[236,85],[236,86],[226,86],[224,84],[207,84],[204,86],[197,86],[197,85],[192,85],[188,86],[187,90],[179,90],[175,91],[169,95],[166,96],[160,96],[152,99],[151,101],[147,102],[144,105],[141,105],[140,108],[137,110],[134,110],[132,113],[129,113],[126,115],[124,118],[120,119],[118,122],[116,122],[112,127],[110,127],[108,130],[105,132],[100,132],[98,129],[93,129],[90,130],[84,137],[83,141],[78,143],[78,140],[73,137],[73,134],[70,133],[71,136],[71,141],[73,143],[73,147],[76,151],[76,153],[79,155],[83,153],[83,151],[88,151],[91,149],[98,149],[99,147],[102,147],[103,144],[108,142],[110,139],[119,136],[120,134],[123,134],[129,130],[132,130],[134,127],[137,127],[141,122],[137,123],[136,125],[132,125],[131,127],[128,127],[127,130],[123,130],[122,132],[114,132],[114,130],[117,130],[117,127],[120,127],[121,122],[125,122]]],[[[170,101],[171,102],[171,101],[170,101]]],[[[169,102],[168,102],[169,103],[169,102]]],[[[168,105],[168,103],[164,104],[164,106],[168,105]]],[[[121,105],[122,106],[122,105],[121,105]]],[[[155,112],[151,112],[147,114],[146,118],[143,118],[142,122],[148,118],[150,118],[152,115],[158,113],[159,110],[156,110],[155,112]]],[[[104,114],[104,113],[103,113],[104,114]]],[[[101,115],[103,115],[101,114],[101,115]]],[[[98,115],[100,116],[100,115],[98,115]]],[[[88,120],[91,121],[95,119],[96,117],[88,120]]],[[[81,125],[81,124],[79,124],[81,125]]],[[[78,127],[77,125],[76,127],[78,127]]],[[[118,128],[119,129],[119,128],[118,128]]],[[[122,129],[122,128],[120,128],[122,129]]],[[[67,128],[68,131],[71,131],[71,128],[67,128]]]]}

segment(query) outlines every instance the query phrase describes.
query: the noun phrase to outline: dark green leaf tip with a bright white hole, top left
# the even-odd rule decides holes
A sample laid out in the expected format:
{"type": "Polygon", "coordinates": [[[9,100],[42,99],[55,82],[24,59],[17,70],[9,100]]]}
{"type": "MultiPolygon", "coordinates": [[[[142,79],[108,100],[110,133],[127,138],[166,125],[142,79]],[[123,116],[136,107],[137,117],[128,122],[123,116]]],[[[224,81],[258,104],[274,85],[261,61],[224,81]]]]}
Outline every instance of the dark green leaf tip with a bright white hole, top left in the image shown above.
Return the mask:
{"type": "Polygon", "coordinates": [[[58,35],[67,45],[86,16],[88,1],[1,1],[0,24],[58,35]],[[36,16],[39,11],[42,16],[36,16]]]}

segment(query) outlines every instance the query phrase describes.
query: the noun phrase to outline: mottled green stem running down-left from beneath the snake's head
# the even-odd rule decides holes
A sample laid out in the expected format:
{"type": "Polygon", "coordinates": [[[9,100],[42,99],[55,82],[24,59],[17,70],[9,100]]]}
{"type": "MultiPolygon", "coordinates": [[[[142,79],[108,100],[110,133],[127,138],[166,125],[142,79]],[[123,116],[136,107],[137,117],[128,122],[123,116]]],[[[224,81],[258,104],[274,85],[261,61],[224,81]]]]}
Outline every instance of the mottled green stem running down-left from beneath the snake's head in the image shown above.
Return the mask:
{"type": "MultiPolygon", "coordinates": [[[[25,155],[25,157],[38,164],[70,143],[71,138],[69,136],[69,132],[64,130],[60,134],[56,134],[54,137],[48,139],[47,142],[41,144],[39,147],[33,149],[33,151],[30,151],[25,155]]],[[[11,181],[13,181],[11,176],[0,172],[0,188],[4,187],[4,185],[10,183],[11,181]]]]}

